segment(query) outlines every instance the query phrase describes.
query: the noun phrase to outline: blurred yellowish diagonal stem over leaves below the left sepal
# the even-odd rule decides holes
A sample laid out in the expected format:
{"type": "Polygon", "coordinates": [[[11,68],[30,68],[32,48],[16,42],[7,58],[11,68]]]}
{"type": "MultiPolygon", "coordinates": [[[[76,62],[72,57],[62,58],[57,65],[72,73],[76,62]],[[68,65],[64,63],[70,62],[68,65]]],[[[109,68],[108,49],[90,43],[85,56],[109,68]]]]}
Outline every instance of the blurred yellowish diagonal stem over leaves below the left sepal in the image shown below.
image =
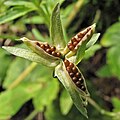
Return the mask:
{"type": "Polygon", "coordinates": [[[8,87],[8,89],[15,88],[24,78],[36,67],[37,63],[32,62],[20,75],[19,77],[8,87]]]}

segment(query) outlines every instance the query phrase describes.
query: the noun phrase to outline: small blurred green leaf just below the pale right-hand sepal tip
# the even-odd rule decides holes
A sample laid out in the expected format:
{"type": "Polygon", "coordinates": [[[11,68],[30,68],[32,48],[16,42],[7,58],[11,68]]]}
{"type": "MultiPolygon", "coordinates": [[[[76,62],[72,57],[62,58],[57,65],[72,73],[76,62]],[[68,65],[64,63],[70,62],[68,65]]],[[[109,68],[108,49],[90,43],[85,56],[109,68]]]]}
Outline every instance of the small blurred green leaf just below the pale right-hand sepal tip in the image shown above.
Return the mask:
{"type": "Polygon", "coordinates": [[[91,46],[90,48],[88,48],[85,51],[84,59],[88,59],[88,58],[92,57],[95,54],[95,52],[97,50],[99,50],[100,48],[101,48],[101,46],[99,44],[95,44],[95,45],[91,46]]]}

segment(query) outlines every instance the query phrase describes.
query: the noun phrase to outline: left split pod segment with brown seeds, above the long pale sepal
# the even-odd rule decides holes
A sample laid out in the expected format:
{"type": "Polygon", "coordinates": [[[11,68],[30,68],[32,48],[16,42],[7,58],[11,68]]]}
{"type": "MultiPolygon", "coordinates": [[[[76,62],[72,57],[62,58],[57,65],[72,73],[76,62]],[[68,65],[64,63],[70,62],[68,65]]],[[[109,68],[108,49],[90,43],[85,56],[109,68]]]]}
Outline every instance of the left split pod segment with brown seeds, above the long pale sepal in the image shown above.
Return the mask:
{"type": "Polygon", "coordinates": [[[39,41],[33,41],[29,40],[27,38],[21,38],[21,40],[30,47],[34,52],[39,54],[40,56],[46,58],[46,59],[60,59],[61,53],[56,50],[55,46],[50,46],[47,42],[39,42],[39,41]]]}

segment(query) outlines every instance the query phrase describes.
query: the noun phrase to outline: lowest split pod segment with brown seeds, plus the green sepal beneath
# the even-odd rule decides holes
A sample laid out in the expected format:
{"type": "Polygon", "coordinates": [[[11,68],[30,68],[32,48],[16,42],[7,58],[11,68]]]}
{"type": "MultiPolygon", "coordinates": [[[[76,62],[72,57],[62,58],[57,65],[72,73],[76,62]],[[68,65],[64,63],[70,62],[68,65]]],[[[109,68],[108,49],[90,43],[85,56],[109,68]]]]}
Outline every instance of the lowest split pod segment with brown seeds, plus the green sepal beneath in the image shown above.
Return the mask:
{"type": "Polygon", "coordinates": [[[85,79],[79,69],[68,60],[64,60],[56,66],[55,76],[64,85],[78,110],[87,117],[85,106],[87,105],[89,93],[85,79]]]}

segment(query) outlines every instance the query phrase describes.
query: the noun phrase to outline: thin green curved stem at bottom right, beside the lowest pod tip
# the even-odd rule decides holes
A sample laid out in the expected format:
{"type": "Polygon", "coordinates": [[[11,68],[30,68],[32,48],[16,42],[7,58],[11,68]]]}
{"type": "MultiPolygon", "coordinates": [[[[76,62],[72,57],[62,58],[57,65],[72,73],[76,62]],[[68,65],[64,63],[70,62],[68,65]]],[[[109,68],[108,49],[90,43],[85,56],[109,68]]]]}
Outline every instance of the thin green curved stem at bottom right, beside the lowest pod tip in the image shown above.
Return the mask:
{"type": "Polygon", "coordinates": [[[107,115],[107,116],[115,116],[116,113],[114,112],[109,112],[109,111],[106,111],[104,110],[103,108],[101,108],[93,99],[91,98],[88,98],[88,102],[94,107],[96,108],[102,115],[107,115]]]}

